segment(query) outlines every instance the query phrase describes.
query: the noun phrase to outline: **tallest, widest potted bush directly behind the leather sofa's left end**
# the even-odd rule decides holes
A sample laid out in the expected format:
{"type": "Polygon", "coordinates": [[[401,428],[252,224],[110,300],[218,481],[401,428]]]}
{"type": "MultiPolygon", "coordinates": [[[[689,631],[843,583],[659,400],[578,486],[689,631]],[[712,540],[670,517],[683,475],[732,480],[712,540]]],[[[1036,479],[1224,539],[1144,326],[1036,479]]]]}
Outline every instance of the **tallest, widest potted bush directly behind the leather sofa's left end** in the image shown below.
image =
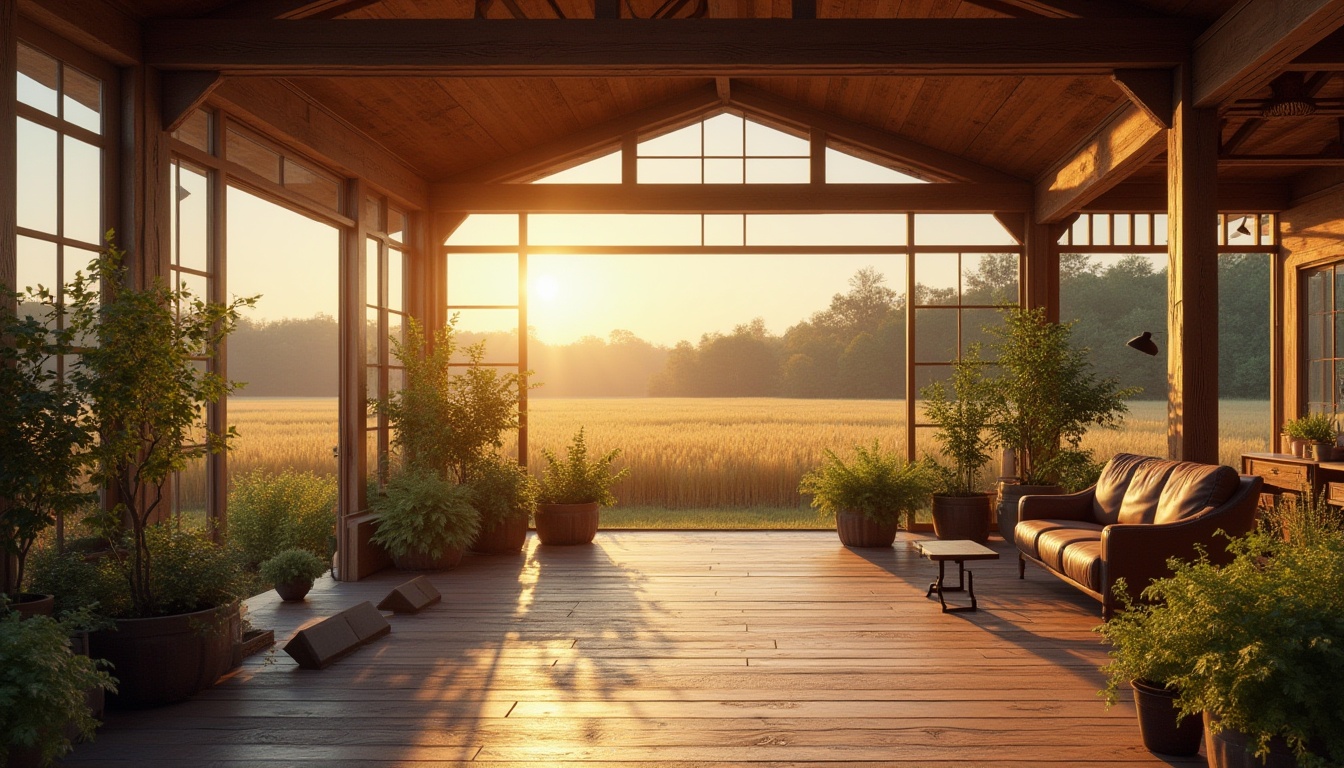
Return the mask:
{"type": "Polygon", "coordinates": [[[984,327],[997,371],[989,377],[986,424],[993,443],[1017,460],[1020,480],[1001,486],[999,504],[999,533],[1012,541],[1021,496],[1062,492],[1071,469],[1091,463],[1079,448],[1083,434],[1118,428],[1125,399],[1140,390],[1098,377],[1089,350],[1070,344],[1071,323],[1051,323],[1040,308],[1004,309],[1003,317],[984,327]]]}

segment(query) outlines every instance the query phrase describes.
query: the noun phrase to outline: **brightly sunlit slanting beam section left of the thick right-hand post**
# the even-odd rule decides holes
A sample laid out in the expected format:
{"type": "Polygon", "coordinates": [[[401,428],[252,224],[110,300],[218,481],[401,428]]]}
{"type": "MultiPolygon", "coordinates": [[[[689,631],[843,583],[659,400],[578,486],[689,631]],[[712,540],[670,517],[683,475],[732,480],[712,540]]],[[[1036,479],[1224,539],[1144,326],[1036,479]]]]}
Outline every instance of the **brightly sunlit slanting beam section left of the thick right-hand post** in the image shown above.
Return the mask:
{"type": "Polygon", "coordinates": [[[1125,180],[1161,153],[1163,135],[1144,110],[1125,104],[1036,182],[1036,221],[1059,221],[1125,180]]]}

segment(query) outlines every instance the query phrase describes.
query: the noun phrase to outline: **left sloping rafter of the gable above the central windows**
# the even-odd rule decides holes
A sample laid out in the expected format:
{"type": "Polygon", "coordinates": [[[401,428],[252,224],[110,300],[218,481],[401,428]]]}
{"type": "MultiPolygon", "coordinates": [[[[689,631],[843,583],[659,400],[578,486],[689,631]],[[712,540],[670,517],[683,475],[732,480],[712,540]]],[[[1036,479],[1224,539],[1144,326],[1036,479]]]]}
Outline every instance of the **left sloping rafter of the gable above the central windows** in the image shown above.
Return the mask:
{"type": "Polygon", "coordinates": [[[527,182],[558,167],[589,160],[620,147],[621,140],[640,132],[663,133],[689,125],[723,109],[714,86],[698,87],[689,93],[648,106],[638,112],[585,128],[519,155],[505,157],[465,171],[453,182],[527,182]]]}

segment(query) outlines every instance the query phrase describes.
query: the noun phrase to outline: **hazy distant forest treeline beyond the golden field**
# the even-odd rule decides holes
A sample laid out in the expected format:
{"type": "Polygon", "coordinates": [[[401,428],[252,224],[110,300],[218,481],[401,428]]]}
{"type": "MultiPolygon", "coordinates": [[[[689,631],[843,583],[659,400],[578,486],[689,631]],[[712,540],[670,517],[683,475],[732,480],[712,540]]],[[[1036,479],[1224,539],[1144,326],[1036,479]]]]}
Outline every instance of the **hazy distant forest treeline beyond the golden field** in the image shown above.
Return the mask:
{"type": "MultiPolygon", "coordinates": [[[[964,304],[995,304],[1016,296],[1017,257],[989,256],[964,276],[964,304]]],[[[1219,258],[1219,391],[1224,398],[1269,397],[1269,262],[1258,254],[1219,258]]],[[[1099,373],[1144,387],[1140,398],[1165,397],[1167,273],[1142,257],[1062,256],[1060,315],[1075,319],[1074,342],[1091,350],[1099,373]],[[1161,352],[1148,358],[1125,340],[1154,331],[1161,352]]],[[[954,289],[917,285],[919,305],[950,304],[954,289]]],[[[629,331],[571,344],[530,340],[534,397],[802,397],[902,398],[906,300],[874,269],[849,278],[831,305],[784,335],[761,319],[727,332],[650,344],[629,331]]],[[[917,311],[917,362],[948,360],[957,350],[957,312],[917,311]]],[[[962,342],[984,339],[978,325],[993,311],[962,313],[962,342]]],[[[491,359],[512,359],[516,335],[461,334],[464,344],[487,340],[491,359]]],[[[335,397],[336,321],[329,316],[261,323],[245,320],[228,343],[230,378],[249,382],[251,397],[335,397]]],[[[926,377],[921,377],[921,385],[926,377]]]]}

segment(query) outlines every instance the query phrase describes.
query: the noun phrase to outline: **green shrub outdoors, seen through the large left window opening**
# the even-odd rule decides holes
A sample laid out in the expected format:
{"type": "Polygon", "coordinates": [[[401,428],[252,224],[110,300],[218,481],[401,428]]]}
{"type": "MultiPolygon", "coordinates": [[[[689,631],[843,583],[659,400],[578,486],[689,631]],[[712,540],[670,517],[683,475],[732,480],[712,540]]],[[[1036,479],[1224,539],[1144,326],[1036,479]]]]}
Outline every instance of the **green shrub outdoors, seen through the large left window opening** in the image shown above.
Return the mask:
{"type": "Polygon", "coordinates": [[[329,475],[249,472],[228,490],[228,541],[251,568],[286,549],[325,557],[336,496],[336,477],[329,475]]]}

